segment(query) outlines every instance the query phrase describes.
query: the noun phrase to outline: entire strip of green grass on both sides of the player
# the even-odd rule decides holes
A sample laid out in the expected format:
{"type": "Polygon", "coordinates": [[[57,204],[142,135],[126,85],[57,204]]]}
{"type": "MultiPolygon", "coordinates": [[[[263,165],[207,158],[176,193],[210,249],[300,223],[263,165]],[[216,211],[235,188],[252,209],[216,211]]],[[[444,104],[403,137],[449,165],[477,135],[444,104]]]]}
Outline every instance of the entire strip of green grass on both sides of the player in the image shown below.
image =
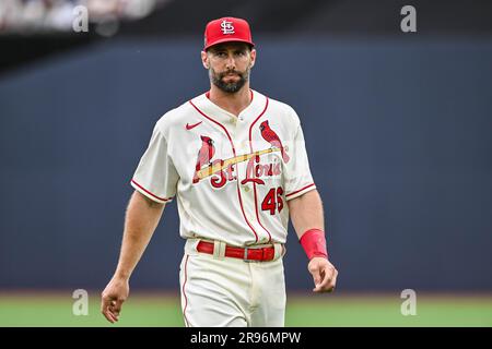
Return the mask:
{"type": "MultiPolygon", "coordinates": [[[[95,292],[94,292],[95,293],[95,292]]],[[[1,294],[0,326],[183,326],[179,299],[134,293],[112,325],[99,313],[98,296],[90,293],[89,315],[72,314],[67,294],[1,294]]],[[[418,296],[417,315],[400,313],[393,296],[291,296],[285,326],[492,326],[492,296],[418,296]]]]}

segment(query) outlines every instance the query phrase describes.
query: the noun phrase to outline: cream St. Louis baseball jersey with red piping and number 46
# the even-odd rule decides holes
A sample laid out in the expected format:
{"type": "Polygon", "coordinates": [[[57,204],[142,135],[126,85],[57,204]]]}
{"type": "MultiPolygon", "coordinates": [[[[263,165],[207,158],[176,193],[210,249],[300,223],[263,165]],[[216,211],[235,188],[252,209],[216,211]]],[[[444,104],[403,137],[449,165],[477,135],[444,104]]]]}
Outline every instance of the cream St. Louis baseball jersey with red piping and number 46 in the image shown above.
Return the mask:
{"type": "Polygon", "coordinates": [[[250,94],[237,117],[206,93],[154,127],[131,184],[159,203],[176,197],[185,239],[284,243],[286,202],[316,188],[294,109],[250,94]]]}

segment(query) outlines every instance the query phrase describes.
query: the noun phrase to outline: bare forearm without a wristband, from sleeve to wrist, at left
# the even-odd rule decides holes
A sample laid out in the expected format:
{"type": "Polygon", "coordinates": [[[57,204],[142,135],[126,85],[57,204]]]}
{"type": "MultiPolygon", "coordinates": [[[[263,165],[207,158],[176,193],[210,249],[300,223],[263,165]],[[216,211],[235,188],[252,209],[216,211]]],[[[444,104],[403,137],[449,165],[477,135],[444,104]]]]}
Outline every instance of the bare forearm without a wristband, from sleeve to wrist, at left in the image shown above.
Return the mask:
{"type": "Polygon", "coordinates": [[[133,193],[127,208],[116,277],[124,279],[130,277],[157,227],[164,206],[137,191],[133,193]]]}

